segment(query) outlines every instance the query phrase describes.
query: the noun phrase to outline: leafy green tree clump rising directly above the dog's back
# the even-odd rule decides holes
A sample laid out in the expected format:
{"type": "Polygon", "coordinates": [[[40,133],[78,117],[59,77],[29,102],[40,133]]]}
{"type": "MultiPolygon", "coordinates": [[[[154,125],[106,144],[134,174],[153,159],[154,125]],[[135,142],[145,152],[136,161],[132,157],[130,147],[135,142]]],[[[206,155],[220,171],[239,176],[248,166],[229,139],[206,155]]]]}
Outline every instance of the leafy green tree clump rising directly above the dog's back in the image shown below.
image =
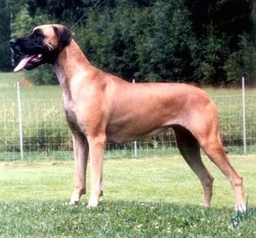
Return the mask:
{"type": "Polygon", "coordinates": [[[94,64],[139,81],[190,78],[189,12],[182,1],[156,1],[147,7],[124,1],[91,13],[78,41],[94,64]],[[83,41],[84,39],[84,41],[83,41]]]}

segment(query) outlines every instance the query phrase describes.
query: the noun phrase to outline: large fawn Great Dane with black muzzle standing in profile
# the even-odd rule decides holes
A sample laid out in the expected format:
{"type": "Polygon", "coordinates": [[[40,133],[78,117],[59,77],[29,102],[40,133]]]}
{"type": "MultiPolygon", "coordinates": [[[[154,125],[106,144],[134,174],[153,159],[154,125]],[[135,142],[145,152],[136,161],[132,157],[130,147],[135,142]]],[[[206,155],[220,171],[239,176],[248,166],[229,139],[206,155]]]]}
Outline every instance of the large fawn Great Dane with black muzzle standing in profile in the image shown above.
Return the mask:
{"type": "Polygon", "coordinates": [[[210,206],[214,178],[202,162],[200,148],[231,182],[236,210],[245,211],[242,177],[226,156],[218,131],[218,111],[210,96],[192,85],[133,84],[103,72],[90,64],[73,35],[63,25],[40,25],[30,35],[10,41],[12,51],[25,55],[15,72],[49,63],[57,74],[73,136],[75,189],[70,205],[78,203],[86,193],[88,157],[88,208],[99,204],[107,142],[140,140],[171,127],[181,155],[202,183],[204,205],[210,206]]]}

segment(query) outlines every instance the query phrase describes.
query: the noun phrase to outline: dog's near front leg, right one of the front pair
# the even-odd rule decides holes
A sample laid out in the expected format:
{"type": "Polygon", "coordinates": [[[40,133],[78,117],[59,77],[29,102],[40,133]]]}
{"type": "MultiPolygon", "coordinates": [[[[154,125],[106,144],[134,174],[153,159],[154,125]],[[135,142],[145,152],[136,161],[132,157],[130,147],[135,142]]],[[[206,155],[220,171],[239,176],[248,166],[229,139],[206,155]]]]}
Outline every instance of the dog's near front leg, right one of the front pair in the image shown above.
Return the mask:
{"type": "Polygon", "coordinates": [[[99,204],[99,197],[103,195],[102,174],[106,137],[105,135],[88,137],[88,143],[91,165],[91,195],[88,208],[94,208],[99,204]]]}

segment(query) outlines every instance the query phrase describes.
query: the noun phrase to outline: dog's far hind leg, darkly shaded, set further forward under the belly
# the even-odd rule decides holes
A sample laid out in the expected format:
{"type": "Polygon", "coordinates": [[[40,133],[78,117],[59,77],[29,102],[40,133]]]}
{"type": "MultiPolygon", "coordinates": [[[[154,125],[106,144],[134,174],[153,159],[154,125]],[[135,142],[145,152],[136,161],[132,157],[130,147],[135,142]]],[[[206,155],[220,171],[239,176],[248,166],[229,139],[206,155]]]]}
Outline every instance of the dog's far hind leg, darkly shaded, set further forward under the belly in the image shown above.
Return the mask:
{"type": "Polygon", "coordinates": [[[214,179],[202,162],[199,144],[189,130],[180,126],[174,126],[173,131],[175,132],[177,146],[181,155],[194,173],[197,174],[197,177],[199,177],[199,180],[202,183],[204,190],[204,205],[210,206],[214,179]]]}

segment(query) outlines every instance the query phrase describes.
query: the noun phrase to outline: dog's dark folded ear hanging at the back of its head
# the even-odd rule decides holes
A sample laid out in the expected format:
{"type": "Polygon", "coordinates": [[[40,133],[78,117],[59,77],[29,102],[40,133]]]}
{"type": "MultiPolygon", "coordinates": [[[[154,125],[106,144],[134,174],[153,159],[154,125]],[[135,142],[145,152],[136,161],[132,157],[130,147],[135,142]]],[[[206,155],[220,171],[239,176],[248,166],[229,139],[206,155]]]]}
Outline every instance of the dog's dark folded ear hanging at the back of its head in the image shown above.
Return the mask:
{"type": "Polygon", "coordinates": [[[67,27],[54,26],[54,33],[58,38],[59,51],[62,51],[63,48],[68,46],[73,38],[73,35],[75,35],[71,30],[67,29],[67,27]]]}

